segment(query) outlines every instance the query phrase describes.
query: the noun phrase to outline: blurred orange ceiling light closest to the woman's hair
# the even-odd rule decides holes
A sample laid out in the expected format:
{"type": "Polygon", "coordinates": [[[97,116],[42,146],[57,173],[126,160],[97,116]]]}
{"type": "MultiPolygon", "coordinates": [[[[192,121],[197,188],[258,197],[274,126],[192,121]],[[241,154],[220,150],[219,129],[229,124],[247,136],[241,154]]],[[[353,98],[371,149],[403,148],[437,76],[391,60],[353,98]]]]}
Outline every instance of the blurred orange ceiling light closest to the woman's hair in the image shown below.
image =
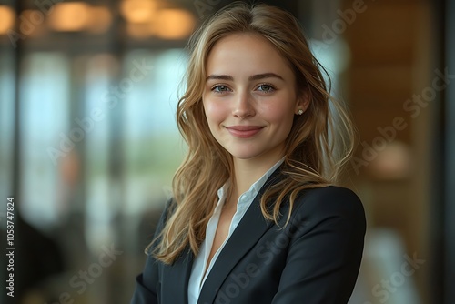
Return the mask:
{"type": "Polygon", "coordinates": [[[157,15],[153,35],[163,39],[184,39],[191,35],[196,24],[195,17],[183,9],[163,9],[157,15]]]}

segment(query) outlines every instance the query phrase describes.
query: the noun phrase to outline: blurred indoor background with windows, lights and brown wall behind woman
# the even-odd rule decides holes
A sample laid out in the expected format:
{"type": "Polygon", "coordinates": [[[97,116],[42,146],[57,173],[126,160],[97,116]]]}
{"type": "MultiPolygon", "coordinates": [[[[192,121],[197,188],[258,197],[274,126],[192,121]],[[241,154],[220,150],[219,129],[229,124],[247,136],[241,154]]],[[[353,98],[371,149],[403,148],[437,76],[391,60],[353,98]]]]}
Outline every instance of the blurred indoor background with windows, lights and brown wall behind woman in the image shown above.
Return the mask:
{"type": "MultiPolygon", "coordinates": [[[[228,2],[0,1],[1,303],[129,302],[185,152],[187,38],[228,2]]],[[[263,2],[298,16],[359,128],[350,303],[455,303],[455,1],[263,2]]]]}

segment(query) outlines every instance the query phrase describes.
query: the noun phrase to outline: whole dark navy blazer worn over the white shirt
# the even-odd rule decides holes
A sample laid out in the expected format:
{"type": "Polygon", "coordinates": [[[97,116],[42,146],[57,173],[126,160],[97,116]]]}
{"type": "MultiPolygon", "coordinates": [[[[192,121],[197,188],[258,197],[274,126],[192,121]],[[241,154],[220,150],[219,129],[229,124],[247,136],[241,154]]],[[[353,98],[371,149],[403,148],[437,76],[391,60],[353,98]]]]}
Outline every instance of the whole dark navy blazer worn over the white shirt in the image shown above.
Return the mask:
{"type": "MultiPolygon", "coordinates": [[[[264,190],[280,179],[276,170],[259,190],[227,240],[201,289],[197,304],[347,303],[363,251],[365,213],[343,187],[302,191],[286,228],[288,202],[278,227],[259,208],[264,190]]],[[[157,227],[166,222],[163,213],[157,227]]],[[[194,255],[189,248],[173,265],[147,258],[136,278],[132,304],[187,304],[194,255]]]]}

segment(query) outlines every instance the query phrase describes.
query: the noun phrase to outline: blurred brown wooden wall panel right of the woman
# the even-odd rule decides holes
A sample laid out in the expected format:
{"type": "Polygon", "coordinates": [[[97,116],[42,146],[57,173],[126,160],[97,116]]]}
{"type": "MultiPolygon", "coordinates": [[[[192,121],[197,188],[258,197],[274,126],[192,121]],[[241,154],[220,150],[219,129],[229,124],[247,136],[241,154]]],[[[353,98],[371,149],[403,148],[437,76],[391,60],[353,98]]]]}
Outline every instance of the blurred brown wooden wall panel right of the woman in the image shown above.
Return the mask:
{"type": "MultiPolygon", "coordinates": [[[[343,4],[342,10],[346,10],[352,8],[353,1],[343,4]]],[[[352,177],[354,187],[367,208],[370,228],[394,229],[403,238],[406,253],[416,252],[430,260],[432,106],[422,108],[417,117],[411,117],[403,106],[424,87],[431,86],[434,76],[431,2],[381,0],[365,4],[367,9],[343,33],[351,52],[346,80],[359,140],[371,144],[381,136],[378,127],[392,126],[395,117],[403,117],[407,127],[398,130],[395,139],[408,149],[403,153],[408,153],[411,168],[408,176],[388,180],[371,175],[369,169],[373,166],[364,166],[352,177]]],[[[362,151],[359,146],[356,156],[360,159],[362,151]]],[[[425,265],[412,276],[423,303],[430,303],[429,268],[425,265]]]]}

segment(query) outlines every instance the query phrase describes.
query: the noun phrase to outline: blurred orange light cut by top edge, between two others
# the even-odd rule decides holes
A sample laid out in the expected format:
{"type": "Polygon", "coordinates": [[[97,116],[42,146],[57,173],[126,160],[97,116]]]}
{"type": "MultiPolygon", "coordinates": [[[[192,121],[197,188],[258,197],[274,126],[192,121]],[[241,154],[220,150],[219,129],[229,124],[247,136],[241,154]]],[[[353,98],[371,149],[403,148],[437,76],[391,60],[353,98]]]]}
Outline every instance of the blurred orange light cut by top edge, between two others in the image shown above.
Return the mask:
{"type": "Polygon", "coordinates": [[[157,3],[153,0],[124,0],[120,12],[126,21],[140,24],[147,23],[156,15],[157,3]]]}

